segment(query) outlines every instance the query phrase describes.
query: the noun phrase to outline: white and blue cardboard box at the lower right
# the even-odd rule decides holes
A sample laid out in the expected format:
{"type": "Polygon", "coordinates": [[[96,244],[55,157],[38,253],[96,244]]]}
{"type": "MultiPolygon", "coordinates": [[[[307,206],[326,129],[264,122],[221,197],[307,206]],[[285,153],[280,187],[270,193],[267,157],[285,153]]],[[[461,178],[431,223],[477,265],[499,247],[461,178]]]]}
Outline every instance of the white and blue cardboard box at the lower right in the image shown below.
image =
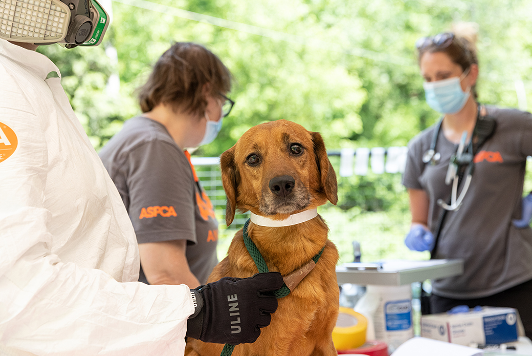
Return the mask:
{"type": "Polygon", "coordinates": [[[421,336],[453,344],[502,344],[517,341],[518,314],[513,308],[485,306],[466,313],[421,316],[421,336]]]}

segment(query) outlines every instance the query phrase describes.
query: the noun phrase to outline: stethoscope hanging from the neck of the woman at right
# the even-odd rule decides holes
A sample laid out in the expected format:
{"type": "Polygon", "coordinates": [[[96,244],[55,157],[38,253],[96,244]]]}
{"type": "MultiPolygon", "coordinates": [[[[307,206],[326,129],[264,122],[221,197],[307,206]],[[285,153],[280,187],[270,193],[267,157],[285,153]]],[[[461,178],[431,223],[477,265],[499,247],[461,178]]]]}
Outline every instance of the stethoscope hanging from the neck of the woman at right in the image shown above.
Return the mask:
{"type": "MultiPolygon", "coordinates": [[[[478,122],[480,117],[480,105],[477,104],[477,106],[478,122]]],[[[436,165],[439,163],[442,157],[439,152],[436,152],[436,143],[438,142],[439,132],[442,130],[442,122],[443,117],[436,124],[432,141],[430,142],[430,148],[423,154],[423,163],[430,163],[431,165],[436,165]]],[[[471,135],[471,140],[469,141],[469,144],[466,145],[465,141],[467,141],[467,134],[467,131],[464,131],[462,133],[460,143],[458,144],[458,150],[456,150],[456,153],[451,156],[451,159],[449,160],[449,167],[447,168],[447,174],[445,176],[445,184],[453,184],[451,190],[451,205],[445,203],[443,199],[438,199],[436,202],[440,207],[448,211],[457,211],[460,208],[465,193],[467,193],[469,189],[469,184],[471,183],[471,178],[473,175],[473,168],[475,167],[475,165],[473,164],[473,135],[471,135]],[[462,191],[460,192],[460,195],[458,195],[458,183],[460,181],[459,168],[464,165],[467,165],[467,175],[465,176],[465,182],[462,191]]]]}

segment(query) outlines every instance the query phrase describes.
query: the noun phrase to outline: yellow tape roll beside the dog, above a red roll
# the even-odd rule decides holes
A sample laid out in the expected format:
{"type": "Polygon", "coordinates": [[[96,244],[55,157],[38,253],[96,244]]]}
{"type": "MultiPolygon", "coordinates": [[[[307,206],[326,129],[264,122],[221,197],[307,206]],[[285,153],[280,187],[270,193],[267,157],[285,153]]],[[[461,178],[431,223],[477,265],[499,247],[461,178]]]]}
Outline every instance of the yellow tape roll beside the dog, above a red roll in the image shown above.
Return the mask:
{"type": "Polygon", "coordinates": [[[368,320],[353,309],[340,306],[336,326],[332,330],[332,342],[336,350],[350,350],[365,343],[368,320]]]}

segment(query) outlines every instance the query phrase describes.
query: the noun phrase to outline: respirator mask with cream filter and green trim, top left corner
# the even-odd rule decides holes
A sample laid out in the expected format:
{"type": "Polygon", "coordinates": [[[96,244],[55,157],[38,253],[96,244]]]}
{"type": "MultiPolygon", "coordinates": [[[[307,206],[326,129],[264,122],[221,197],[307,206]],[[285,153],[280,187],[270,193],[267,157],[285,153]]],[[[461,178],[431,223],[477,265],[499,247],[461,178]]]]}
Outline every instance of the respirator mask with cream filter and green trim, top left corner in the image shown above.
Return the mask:
{"type": "Polygon", "coordinates": [[[97,46],[108,26],[96,0],[0,0],[0,38],[11,42],[97,46]]]}

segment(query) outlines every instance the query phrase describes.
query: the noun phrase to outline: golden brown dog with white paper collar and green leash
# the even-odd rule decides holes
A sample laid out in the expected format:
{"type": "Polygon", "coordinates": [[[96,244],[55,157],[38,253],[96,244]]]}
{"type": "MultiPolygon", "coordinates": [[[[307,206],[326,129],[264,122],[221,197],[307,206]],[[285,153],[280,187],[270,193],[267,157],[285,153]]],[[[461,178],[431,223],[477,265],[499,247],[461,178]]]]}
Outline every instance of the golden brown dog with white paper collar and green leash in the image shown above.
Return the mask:
{"type": "MultiPolygon", "coordinates": [[[[234,147],[223,152],[221,170],[227,193],[227,225],[233,221],[236,209],[284,220],[327,200],[332,204],[338,200],[336,174],[320,134],[286,120],[252,127],[234,147]]],[[[338,315],[338,252],[327,233],[327,225],[319,215],[292,226],[250,223],[248,234],[269,270],[282,276],[325,249],[314,269],[290,294],[278,300],[270,325],[261,330],[257,341],[237,345],[234,356],[337,354],[331,333],[338,315]]],[[[257,271],[239,230],[228,256],[214,268],[209,282],[226,276],[251,277],[257,271]]],[[[189,339],[185,354],[219,356],[222,347],[189,339]]]]}

